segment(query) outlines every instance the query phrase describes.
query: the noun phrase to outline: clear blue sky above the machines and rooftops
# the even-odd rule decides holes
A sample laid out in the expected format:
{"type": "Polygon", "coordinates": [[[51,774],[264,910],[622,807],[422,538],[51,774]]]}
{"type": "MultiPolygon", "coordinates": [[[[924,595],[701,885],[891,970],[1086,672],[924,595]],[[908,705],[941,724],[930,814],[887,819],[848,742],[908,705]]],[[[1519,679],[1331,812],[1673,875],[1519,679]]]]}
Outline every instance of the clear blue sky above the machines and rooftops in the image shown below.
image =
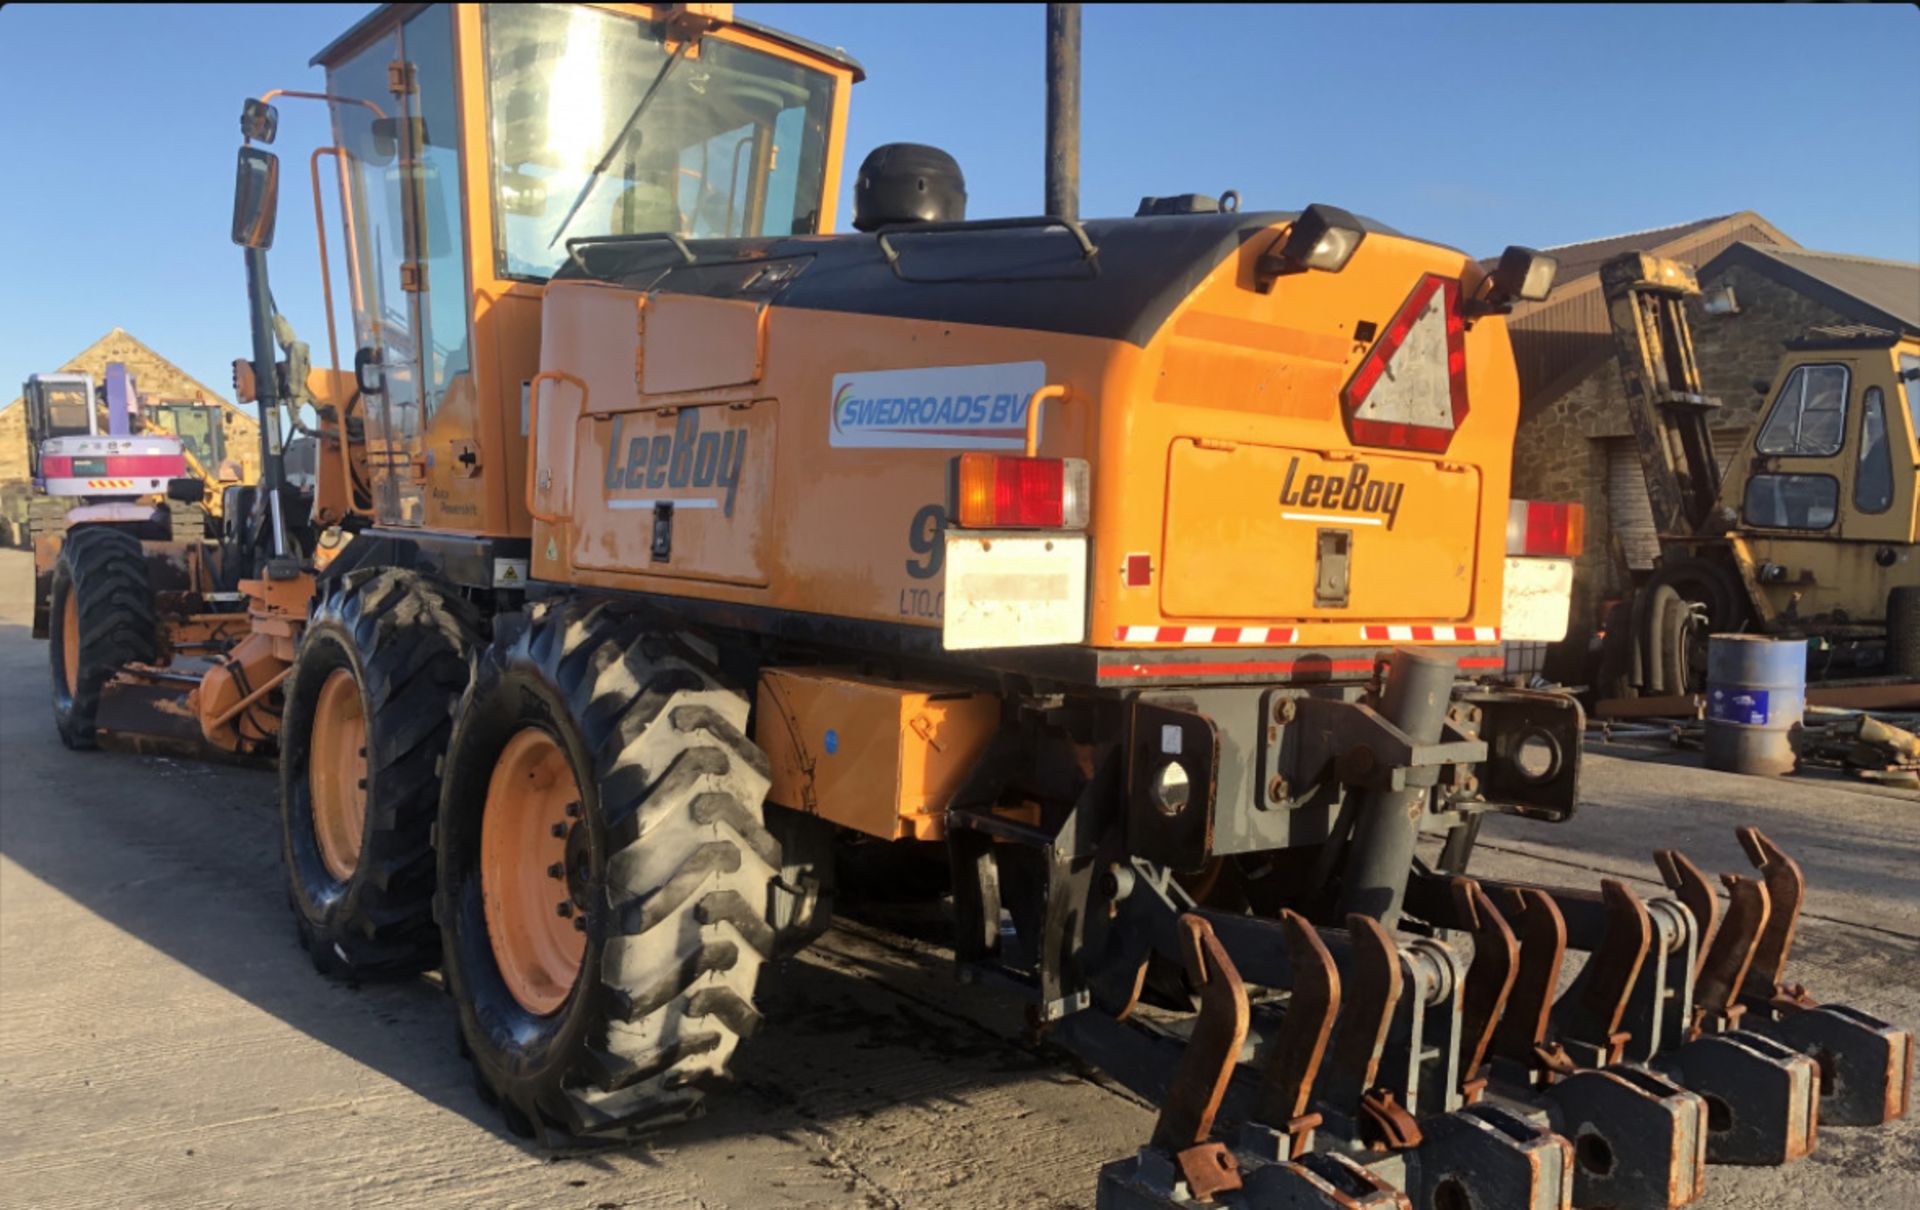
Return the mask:
{"type": "MultiPolygon", "coordinates": [[[[0,399],[115,325],[227,390],[240,100],[319,88],[307,58],[361,12],[0,10],[0,399]]],[[[854,163],[931,142],[973,217],[1041,209],[1041,6],[737,12],[866,63],[854,163]]],[[[1811,248],[1920,261],[1916,65],[1912,6],[1087,6],[1081,211],[1236,188],[1486,255],[1757,209],[1811,248]]],[[[275,294],[317,361],[323,136],[317,106],[282,106],[275,294]]]]}

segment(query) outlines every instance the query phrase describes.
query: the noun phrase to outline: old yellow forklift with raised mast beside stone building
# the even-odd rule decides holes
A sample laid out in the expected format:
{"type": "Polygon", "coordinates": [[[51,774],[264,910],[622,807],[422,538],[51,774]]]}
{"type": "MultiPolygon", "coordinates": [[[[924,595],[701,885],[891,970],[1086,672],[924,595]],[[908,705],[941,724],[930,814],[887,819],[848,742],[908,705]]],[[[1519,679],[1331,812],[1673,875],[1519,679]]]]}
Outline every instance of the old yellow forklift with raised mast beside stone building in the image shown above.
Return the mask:
{"type": "Polygon", "coordinates": [[[1686,319],[1695,271],[1630,252],[1599,277],[1661,544],[1607,618],[1599,697],[1697,693],[1707,636],[1730,632],[1807,638],[1812,680],[1920,693],[1920,332],[1791,342],[1722,469],[1686,319]]]}

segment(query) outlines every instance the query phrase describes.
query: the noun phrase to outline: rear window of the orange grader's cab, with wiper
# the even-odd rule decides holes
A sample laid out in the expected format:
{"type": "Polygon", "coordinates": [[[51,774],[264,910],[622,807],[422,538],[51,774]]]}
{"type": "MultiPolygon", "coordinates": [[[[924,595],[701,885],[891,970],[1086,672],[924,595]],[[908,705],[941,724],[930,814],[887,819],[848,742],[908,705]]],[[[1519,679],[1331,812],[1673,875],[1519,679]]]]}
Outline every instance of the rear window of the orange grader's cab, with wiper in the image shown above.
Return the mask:
{"type": "Polygon", "coordinates": [[[503,275],[578,236],[820,229],[829,75],[712,36],[672,61],[659,27],[559,4],[488,6],[486,54],[503,275]]]}

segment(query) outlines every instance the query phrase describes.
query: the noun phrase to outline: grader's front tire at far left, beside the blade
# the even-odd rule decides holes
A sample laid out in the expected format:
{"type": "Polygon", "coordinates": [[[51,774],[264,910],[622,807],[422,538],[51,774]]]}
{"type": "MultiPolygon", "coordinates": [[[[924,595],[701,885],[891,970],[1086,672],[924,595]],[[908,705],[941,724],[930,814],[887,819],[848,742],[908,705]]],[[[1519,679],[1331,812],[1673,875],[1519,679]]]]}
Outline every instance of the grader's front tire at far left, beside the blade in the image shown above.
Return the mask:
{"type": "Polygon", "coordinates": [[[96,747],[102,686],[125,665],[159,657],[159,611],[138,538],[109,528],[67,534],[54,563],[46,645],[60,741],[96,747]]]}

